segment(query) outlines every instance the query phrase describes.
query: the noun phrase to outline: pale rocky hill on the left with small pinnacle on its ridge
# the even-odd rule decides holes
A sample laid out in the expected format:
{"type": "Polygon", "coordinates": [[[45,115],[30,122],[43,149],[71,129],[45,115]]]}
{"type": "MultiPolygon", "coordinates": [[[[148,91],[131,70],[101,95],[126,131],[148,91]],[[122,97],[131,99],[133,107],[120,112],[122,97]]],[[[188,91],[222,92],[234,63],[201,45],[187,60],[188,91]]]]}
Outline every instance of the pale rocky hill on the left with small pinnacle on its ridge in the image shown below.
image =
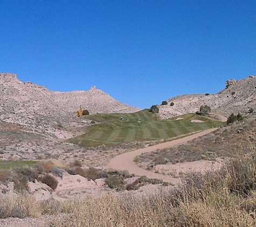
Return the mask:
{"type": "Polygon", "coordinates": [[[31,82],[23,83],[15,74],[0,74],[0,120],[22,125],[27,132],[71,137],[72,133],[64,128],[86,124],[76,117],[80,105],[90,113],[140,110],[114,100],[95,87],[89,91],[50,91],[31,82]]]}

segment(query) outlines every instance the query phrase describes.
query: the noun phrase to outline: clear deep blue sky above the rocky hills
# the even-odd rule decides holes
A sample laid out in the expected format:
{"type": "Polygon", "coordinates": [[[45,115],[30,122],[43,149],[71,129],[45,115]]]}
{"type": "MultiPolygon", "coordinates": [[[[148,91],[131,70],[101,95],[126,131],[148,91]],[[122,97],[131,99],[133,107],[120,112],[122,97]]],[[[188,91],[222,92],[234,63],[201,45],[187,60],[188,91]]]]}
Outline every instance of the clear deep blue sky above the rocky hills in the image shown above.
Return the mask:
{"type": "Polygon", "coordinates": [[[0,72],[149,108],[256,74],[256,1],[0,0],[0,72]]]}

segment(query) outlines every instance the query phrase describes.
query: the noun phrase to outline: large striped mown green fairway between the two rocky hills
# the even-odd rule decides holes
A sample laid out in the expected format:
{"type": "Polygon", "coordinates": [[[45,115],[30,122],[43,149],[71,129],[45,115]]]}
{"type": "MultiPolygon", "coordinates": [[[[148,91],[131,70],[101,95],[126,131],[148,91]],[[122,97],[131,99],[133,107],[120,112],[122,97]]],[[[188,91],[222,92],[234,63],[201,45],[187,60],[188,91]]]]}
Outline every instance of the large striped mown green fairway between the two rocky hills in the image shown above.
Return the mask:
{"type": "Polygon", "coordinates": [[[88,115],[84,118],[94,120],[98,124],[89,126],[85,134],[68,141],[84,147],[115,145],[132,141],[169,139],[211,127],[222,127],[225,124],[194,113],[179,117],[183,119],[175,120],[175,117],[158,120],[148,109],[135,113],[88,115]],[[203,123],[192,123],[191,120],[203,120],[203,123]]]}

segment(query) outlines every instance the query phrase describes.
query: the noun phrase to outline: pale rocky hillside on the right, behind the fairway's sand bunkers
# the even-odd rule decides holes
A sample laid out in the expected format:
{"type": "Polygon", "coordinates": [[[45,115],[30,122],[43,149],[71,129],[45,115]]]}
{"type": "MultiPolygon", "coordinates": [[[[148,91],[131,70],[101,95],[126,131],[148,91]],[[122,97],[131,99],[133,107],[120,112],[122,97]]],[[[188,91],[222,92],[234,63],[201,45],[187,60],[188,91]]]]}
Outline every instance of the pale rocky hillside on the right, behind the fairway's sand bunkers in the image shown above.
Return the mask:
{"type": "Polygon", "coordinates": [[[208,105],[212,113],[226,117],[238,112],[247,115],[250,108],[256,110],[256,76],[228,80],[225,89],[217,94],[179,95],[167,101],[167,105],[159,107],[164,119],[199,111],[201,105],[208,105]],[[171,102],[174,105],[171,106],[171,102]]]}

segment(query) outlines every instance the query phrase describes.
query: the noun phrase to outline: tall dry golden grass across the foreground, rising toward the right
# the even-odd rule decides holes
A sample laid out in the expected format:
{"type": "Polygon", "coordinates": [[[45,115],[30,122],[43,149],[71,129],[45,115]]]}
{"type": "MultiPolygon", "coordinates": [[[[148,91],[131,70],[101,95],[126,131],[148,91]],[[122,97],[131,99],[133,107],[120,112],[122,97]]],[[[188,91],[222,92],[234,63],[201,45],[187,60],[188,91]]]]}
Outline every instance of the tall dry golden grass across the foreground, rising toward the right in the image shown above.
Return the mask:
{"type": "Polygon", "coordinates": [[[0,217],[63,214],[48,226],[256,226],[256,158],[237,155],[219,171],[191,173],[179,187],[150,193],[37,202],[31,195],[0,199],[0,217]]]}

